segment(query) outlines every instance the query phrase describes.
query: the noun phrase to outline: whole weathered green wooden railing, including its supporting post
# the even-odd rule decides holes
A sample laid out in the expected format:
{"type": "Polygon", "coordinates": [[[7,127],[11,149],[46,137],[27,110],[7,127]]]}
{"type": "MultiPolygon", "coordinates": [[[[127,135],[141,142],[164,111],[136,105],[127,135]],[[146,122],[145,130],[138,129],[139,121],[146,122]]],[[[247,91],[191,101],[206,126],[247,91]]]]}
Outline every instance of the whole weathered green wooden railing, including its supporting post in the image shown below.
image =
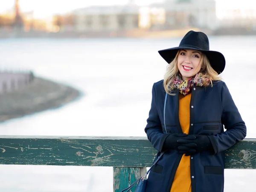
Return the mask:
{"type": "MultiPolygon", "coordinates": [[[[111,166],[120,192],[145,175],[157,151],[146,137],[0,136],[0,164],[111,166]]],[[[226,151],[226,169],[256,169],[256,139],[226,151]]]]}

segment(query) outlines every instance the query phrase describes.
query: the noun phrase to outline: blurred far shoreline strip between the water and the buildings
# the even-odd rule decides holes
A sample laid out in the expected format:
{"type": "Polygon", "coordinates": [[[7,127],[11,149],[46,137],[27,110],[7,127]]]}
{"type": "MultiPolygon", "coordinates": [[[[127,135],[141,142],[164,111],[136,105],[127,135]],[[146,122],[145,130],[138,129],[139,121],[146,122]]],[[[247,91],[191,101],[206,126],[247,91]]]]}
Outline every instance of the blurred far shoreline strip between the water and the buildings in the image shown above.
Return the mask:
{"type": "Polygon", "coordinates": [[[183,37],[189,30],[202,31],[207,35],[256,35],[256,30],[244,28],[221,28],[216,30],[186,28],[173,30],[119,30],[99,32],[17,32],[0,31],[1,38],[177,38],[183,37]]]}

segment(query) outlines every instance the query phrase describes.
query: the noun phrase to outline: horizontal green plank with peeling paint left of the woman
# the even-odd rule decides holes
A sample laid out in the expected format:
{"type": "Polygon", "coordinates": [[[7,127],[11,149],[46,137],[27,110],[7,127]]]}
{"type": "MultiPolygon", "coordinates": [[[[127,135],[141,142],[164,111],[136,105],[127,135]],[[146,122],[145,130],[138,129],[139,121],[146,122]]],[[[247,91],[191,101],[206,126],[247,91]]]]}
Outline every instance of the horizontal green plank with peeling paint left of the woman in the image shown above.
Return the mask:
{"type": "Polygon", "coordinates": [[[141,167],[157,153],[146,138],[92,138],[0,136],[0,164],[141,167]]]}

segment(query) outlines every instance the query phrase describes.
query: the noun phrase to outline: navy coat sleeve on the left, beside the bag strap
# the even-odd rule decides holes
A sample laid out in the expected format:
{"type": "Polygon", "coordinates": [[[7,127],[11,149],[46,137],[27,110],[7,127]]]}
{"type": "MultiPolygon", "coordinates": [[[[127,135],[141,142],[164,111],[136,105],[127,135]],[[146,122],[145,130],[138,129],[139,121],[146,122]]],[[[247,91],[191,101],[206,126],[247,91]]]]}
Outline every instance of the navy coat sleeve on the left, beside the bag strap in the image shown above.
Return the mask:
{"type": "Polygon", "coordinates": [[[149,111],[145,132],[147,134],[148,140],[152,143],[153,147],[157,149],[157,151],[162,151],[163,143],[168,134],[164,134],[162,131],[161,121],[157,111],[156,94],[154,86],[155,84],[153,85],[152,88],[151,109],[149,111]]]}

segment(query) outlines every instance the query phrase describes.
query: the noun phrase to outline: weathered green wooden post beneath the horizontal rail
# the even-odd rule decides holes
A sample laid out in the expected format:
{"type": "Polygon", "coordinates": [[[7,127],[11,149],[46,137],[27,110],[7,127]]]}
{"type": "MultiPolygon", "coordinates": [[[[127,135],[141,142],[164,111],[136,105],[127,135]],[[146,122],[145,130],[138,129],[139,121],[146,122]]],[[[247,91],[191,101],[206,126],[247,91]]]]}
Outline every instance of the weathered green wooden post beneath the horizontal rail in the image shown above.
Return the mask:
{"type": "MultiPolygon", "coordinates": [[[[145,173],[146,167],[113,167],[113,192],[121,192],[145,173]]],[[[129,192],[134,192],[136,186],[129,192]]]]}

